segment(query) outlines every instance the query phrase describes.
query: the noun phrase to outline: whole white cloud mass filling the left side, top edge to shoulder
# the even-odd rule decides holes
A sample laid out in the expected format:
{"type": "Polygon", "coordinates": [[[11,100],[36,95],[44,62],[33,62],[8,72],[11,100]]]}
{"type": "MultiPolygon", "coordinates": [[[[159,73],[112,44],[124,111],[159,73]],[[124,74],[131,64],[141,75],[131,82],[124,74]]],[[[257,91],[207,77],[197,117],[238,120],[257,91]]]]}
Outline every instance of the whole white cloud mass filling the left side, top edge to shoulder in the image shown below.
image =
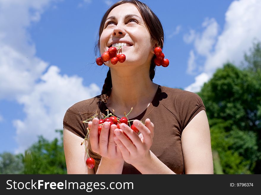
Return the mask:
{"type": "Polygon", "coordinates": [[[36,56],[27,29],[54,1],[0,0],[0,100],[17,101],[25,113],[23,120],[13,120],[16,153],[23,152],[38,135],[56,137],[54,130],[63,128],[66,110],[100,93],[96,84],[84,86],[81,77],[61,75],[57,66],[48,68],[36,56]]]}

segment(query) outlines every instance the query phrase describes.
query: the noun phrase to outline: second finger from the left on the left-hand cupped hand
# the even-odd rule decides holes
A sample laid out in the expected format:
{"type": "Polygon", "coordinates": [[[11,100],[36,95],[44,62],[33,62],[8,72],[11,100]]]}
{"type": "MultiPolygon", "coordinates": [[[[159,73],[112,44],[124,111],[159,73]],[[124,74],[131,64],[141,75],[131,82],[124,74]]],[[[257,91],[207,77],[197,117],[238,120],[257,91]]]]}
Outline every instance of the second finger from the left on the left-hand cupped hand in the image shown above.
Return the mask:
{"type": "Polygon", "coordinates": [[[100,134],[100,140],[99,140],[101,156],[108,153],[109,129],[110,129],[110,123],[104,122],[104,124],[101,128],[101,134],[100,134]]]}

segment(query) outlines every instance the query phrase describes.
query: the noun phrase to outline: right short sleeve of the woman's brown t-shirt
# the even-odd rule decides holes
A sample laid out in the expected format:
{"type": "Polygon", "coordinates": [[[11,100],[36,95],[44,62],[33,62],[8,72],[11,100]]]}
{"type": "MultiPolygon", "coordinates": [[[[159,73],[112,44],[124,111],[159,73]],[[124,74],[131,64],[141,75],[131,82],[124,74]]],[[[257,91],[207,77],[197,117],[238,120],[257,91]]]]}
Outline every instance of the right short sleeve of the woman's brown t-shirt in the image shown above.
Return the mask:
{"type": "Polygon", "coordinates": [[[181,123],[182,123],[182,131],[185,129],[187,124],[194,118],[195,115],[198,114],[201,110],[205,110],[206,108],[203,104],[202,99],[196,93],[188,92],[184,97],[182,114],[181,114],[181,123]]]}

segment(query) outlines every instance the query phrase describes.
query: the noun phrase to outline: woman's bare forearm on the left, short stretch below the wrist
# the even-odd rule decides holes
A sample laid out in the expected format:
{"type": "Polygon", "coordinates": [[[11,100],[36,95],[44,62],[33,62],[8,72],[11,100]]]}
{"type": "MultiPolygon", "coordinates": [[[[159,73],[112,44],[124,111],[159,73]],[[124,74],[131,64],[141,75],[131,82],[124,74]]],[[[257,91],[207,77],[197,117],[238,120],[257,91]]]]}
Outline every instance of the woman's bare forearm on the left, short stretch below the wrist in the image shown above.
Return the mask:
{"type": "Polygon", "coordinates": [[[123,164],[123,159],[112,161],[102,157],[96,174],[122,174],[123,164]]]}

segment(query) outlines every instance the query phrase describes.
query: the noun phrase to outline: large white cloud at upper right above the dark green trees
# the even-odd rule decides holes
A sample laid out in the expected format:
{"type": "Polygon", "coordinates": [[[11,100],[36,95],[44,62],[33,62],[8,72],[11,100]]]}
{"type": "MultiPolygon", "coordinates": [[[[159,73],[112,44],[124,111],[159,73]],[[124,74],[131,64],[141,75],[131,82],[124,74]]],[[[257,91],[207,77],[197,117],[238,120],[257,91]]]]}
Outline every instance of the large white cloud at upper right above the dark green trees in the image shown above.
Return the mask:
{"type": "MultiPolygon", "coordinates": [[[[236,66],[240,65],[244,60],[244,53],[252,47],[254,39],[261,41],[260,10],[259,0],[233,1],[225,13],[225,26],[220,35],[217,35],[218,25],[214,19],[203,23],[203,27],[206,28],[201,38],[198,39],[196,36],[194,39],[197,52],[195,58],[206,57],[203,73],[210,76],[228,61],[236,66]]],[[[184,40],[189,42],[187,39],[184,40]]],[[[188,64],[188,69],[190,66],[188,64]]],[[[187,88],[196,88],[196,85],[200,85],[199,82],[195,81],[187,88]]]]}

